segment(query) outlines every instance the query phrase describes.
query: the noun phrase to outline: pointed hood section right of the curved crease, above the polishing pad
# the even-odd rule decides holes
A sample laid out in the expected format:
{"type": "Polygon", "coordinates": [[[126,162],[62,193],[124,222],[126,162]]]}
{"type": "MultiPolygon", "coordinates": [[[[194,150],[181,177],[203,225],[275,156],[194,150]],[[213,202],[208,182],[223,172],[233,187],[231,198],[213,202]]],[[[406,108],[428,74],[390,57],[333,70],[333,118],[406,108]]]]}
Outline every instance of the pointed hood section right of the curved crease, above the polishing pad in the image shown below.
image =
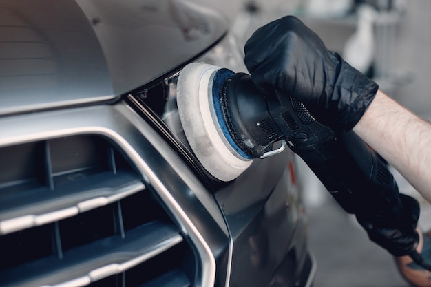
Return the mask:
{"type": "Polygon", "coordinates": [[[78,3],[101,43],[115,94],[129,92],[193,59],[227,31],[227,19],[220,13],[189,1],[78,3]]]}

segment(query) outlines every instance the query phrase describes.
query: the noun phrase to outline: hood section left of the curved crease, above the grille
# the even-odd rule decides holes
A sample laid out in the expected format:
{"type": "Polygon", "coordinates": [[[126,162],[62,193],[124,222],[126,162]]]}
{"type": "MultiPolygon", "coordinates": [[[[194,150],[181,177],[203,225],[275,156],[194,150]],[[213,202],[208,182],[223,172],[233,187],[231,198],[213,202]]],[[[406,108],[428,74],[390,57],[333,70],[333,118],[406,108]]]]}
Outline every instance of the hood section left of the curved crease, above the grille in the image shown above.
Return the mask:
{"type": "Polygon", "coordinates": [[[3,1],[0,15],[0,114],[114,98],[103,50],[74,1],[3,1]]]}

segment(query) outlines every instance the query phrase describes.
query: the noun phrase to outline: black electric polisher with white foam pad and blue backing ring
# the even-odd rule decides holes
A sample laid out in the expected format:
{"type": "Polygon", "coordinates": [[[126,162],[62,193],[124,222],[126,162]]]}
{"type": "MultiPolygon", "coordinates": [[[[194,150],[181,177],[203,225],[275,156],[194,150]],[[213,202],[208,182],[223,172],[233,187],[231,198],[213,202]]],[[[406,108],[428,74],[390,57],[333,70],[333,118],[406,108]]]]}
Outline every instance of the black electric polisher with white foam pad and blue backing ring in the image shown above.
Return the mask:
{"type": "MultiPolygon", "coordinates": [[[[238,178],[253,160],[287,145],[348,213],[403,220],[401,195],[384,160],[353,131],[319,123],[294,98],[277,90],[264,94],[249,74],[191,63],[178,77],[177,104],[191,149],[218,180],[238,178]]],[[[395,255],[430,268],[414,251],[418,238],[412,237],[408,250],[395,255]]]]}

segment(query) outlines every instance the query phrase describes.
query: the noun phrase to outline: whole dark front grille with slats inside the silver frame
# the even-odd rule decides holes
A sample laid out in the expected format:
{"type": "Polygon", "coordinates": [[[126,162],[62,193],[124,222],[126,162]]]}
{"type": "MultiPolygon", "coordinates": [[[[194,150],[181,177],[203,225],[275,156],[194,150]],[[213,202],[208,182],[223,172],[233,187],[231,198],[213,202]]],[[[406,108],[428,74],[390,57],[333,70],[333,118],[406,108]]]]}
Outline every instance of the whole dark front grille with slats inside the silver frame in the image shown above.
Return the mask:
{"type": "Polygon", "coordinates": [[[1,286],[193,285],[191,247],[108,140],[43,140],[0,158],[1,286]]]}

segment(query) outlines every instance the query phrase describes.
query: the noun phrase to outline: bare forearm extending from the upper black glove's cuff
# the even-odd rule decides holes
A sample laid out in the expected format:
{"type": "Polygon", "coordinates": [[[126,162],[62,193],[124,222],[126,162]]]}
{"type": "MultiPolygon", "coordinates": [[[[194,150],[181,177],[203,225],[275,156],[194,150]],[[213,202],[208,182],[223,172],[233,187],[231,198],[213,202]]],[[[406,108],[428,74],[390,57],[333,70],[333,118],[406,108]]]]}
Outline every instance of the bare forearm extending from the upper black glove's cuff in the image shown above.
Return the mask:
{"type": "Polygon", "coordinates": [[[431,124],[377,92],[353,131],[431,202],[431,124]]]}

